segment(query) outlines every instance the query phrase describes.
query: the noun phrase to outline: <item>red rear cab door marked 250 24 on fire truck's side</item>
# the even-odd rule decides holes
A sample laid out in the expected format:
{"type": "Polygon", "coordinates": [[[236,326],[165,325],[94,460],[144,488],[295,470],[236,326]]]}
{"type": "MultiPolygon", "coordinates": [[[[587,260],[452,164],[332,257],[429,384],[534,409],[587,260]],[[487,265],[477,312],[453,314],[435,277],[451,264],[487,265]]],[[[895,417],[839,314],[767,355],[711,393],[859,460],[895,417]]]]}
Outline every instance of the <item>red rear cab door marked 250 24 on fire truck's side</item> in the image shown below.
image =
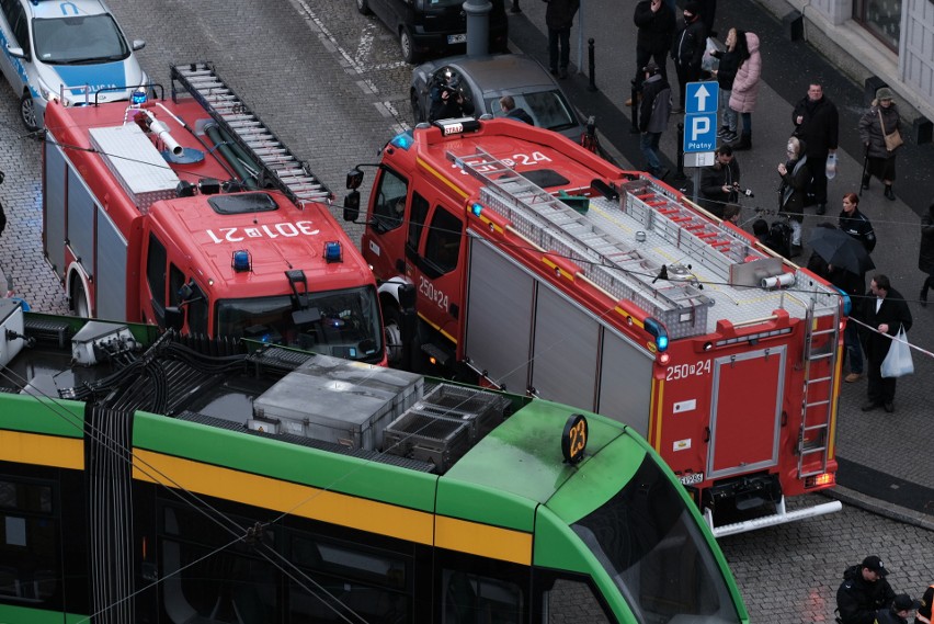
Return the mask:
{"type": "Polygon", "coordinates": [[[407,273],[419,296],[419,315],[452,342],[457,341],[464,220],[418,191],[412,193],[406,237],[407,273]]]}

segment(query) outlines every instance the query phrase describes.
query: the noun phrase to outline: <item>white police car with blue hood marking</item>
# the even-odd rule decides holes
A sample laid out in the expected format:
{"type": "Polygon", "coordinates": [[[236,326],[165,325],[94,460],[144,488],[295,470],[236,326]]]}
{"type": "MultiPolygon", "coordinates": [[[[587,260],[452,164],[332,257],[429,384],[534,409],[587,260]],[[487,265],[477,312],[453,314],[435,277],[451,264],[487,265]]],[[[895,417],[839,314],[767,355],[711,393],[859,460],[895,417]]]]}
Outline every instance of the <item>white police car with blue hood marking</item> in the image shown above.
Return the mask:
{"type": "Polygon", "coordinates": [[[45,105],[128,100],[149,78],[101,0],[0,0],[0,70],[20,97],[20,117],[42,126],[45,105]]]}

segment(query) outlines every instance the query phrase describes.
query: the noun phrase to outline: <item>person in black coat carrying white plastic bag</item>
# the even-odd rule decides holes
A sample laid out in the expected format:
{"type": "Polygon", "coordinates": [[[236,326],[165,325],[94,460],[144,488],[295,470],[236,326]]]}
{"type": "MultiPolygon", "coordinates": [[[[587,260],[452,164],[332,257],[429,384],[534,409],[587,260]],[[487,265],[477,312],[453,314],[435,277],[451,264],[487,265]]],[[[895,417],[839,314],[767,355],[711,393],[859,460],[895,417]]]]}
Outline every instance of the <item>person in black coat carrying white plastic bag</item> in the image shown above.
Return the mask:
{"type": "Polygon", "coordinates": [[[899,331],[911,329],[911,310],[908,308],[901,293],[892,288],[887,275],[876,273],[869,283],[869,292],[863,299],[859,320],[867,328],[862,328],[863,344],[866,348],[868,362],[868,400],[863,411],[882,407],[887,413],[895,411],[896,377],[882,377],[882,361],[889,353],[892,338],[899,331]]]}

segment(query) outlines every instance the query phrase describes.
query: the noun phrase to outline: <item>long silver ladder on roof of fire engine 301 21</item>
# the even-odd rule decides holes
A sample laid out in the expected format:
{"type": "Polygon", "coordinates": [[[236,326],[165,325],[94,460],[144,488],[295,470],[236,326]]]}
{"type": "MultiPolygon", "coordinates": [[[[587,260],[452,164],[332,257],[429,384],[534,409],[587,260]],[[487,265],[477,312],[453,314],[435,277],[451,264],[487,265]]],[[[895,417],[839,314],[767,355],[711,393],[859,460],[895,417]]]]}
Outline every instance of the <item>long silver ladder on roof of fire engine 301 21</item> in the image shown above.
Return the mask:
{"type": "Polygon", "coordinates": [[[218,76],[210,63],[192,63],[172,67],[172,99],[175,84],[191,94],[217,124],[261,169],[259,183],[272,183],[303,207],[306,202],[330,203],[331,191],[318,180],[305,162],[298,160],[266,125],[218,76]]]}

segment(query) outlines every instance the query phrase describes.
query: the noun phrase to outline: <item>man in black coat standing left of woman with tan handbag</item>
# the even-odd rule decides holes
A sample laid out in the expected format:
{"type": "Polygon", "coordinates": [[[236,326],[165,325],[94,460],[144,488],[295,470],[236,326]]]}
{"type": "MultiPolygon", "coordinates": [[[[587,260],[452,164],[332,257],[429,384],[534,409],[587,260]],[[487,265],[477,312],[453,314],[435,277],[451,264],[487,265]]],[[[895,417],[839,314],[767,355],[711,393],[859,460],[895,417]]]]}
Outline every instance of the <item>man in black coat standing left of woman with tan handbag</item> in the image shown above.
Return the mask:
{"type": "Polygon", "coordinates": [[[822,215],[827,212],[827,160],[831,155],[836,158],[840,115],[836,105],[823,94],[820,83],[812,82],[808,87],[808,94],[795,105],[791,123],[795,124],[795,136],[805,139],[808,145],[808,171],[811,174],[808,194],[813,196],[817,214],[822,215]]]}

